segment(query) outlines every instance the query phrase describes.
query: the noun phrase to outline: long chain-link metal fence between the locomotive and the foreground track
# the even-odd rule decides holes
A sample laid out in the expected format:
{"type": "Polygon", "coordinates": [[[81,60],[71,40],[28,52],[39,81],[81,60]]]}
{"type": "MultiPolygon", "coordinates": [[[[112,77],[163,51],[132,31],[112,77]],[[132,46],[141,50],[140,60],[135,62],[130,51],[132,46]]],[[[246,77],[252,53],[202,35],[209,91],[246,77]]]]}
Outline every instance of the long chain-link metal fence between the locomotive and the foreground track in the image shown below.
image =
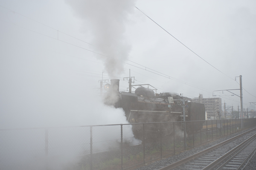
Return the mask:
{"type": "Polygon", "coordinates": [[[0,169],[125,170],[255,125],[251,118],[1,129],[0,169]]]}

